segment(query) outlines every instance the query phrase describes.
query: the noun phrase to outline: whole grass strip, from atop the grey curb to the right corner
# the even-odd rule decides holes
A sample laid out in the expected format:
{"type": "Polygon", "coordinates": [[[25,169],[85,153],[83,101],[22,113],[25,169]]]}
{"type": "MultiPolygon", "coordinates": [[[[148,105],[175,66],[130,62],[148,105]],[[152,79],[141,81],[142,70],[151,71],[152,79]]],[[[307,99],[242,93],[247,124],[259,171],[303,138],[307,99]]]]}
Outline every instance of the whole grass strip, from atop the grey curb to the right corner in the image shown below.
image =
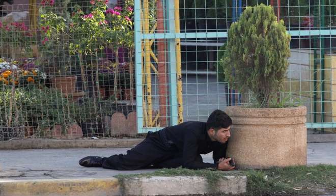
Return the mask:
{"type": "Polygon", "coordinates": [[[179,167],[177,169],[161,169],[152,173],[118,175],[116,178],[123,183],[125,179],[134,177],[200,176],[207,179],[209,189],[213,190],[220,178],[232,175],[247,176],[247,192],[244,194],[245,196],[304,195],[336,190],[336,166],[325,164],[284,168],[274,167],[268,170],[240,170],[239,173],[188,170],[179,167]]]}

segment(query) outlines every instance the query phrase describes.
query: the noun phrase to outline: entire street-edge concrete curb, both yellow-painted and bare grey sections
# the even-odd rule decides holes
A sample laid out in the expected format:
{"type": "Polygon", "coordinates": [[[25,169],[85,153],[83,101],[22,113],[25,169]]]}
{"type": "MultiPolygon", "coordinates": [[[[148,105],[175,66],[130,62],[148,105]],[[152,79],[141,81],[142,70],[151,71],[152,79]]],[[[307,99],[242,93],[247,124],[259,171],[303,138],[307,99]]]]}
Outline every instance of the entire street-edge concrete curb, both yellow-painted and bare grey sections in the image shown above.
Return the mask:
{"type": "Polygon", "coordinates": [[[210,189],[203,177],[0,180],[0,196],[187,195],[246,192],[246,176],[225,176],[210,189]]]}

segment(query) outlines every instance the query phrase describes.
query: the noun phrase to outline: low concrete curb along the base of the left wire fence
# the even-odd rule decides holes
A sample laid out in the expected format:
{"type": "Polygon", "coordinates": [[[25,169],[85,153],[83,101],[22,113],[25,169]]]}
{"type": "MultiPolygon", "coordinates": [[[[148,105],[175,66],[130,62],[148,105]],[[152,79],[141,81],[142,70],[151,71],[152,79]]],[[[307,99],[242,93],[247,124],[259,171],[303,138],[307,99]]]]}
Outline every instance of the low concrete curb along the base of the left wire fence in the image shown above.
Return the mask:
{"type": "Polygon", "coordinates": [[[0,150],[52,149],[52,148],[130,148],[139,144],[138,139],[15,139],[0,141],[0,150]]]}

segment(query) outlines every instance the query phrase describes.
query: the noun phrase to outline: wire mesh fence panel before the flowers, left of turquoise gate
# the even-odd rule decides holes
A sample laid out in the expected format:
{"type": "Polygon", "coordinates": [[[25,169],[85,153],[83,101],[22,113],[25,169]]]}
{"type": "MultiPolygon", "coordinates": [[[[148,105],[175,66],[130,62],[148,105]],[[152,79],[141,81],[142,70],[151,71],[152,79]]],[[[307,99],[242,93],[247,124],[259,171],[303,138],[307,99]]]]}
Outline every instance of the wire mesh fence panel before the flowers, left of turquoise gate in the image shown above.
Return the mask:
{"type": "Polygon", "coordinates": [[[0,23],[0,140],[142,136],[132,2],[8,3],[0,23]]]}

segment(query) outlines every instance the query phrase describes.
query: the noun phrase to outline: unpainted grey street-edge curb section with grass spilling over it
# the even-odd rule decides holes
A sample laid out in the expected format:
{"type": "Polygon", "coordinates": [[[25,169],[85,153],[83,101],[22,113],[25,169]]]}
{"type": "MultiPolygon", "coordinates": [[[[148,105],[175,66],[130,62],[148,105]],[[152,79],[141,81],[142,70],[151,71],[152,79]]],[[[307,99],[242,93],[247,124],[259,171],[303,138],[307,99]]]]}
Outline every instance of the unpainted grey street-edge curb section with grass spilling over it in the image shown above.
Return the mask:
{"type": "Polygon", "coordinates": [[[196,176],[130,178],[124,180],[124,195],[188,195],[246,192],[246,176],[225,176],[211,189],[207,180],[196,176]]]}

